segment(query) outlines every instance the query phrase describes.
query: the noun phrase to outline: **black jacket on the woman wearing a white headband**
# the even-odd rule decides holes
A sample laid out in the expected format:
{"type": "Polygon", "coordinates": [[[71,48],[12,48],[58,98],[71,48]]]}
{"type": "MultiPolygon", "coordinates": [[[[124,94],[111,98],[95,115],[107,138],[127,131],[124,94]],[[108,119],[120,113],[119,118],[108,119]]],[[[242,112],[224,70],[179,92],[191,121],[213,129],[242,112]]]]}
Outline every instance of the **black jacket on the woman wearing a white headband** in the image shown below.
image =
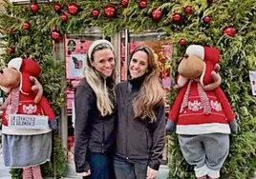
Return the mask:
{"type": "Polygon", "coordinates": [[[86,79],[82,79],[75,91],[75,169],[90,169],[87,153],[108,153],[115,141],[114,114],[101,116],[96,108],[96,93],[86,79]]]}

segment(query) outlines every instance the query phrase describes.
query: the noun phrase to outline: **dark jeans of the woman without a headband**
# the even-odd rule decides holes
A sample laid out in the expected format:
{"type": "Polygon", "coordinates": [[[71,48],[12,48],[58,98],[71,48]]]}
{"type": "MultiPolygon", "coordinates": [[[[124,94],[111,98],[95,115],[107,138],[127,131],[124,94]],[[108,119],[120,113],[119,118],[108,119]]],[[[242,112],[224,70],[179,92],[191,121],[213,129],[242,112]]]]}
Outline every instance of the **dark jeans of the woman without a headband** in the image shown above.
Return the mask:
{"type": "Polygon", "coordinates": [[[114,168],[117,179],[146,179],[147,165],[115,156],[114,168]]]}

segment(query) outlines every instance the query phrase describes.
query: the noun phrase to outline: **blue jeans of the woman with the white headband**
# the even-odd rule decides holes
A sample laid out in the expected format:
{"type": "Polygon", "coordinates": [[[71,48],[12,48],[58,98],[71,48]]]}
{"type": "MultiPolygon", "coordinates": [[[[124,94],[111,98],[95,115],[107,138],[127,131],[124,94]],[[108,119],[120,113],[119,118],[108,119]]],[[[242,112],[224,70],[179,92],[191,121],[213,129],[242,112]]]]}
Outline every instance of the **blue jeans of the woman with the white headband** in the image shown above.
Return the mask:
{"type": "Polygon", "coordinates": [[[115,179],[113,157],[91,152],[88,154],[88,162],[91,174],[83,179],[115,179]]]}

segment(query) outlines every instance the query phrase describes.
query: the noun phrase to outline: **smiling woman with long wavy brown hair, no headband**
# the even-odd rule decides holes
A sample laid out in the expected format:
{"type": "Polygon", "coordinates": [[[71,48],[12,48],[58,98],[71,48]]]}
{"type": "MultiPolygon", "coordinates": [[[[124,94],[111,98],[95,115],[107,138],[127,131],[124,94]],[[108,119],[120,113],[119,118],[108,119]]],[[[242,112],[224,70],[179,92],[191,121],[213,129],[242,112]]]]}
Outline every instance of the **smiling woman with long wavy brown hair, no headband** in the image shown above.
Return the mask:
{"type": "Polygon", "coordinates": [[[153,50],[133,51],[129,79],[117,85],[117,179],[153,179],[162,158],[165,92],[153,50]]]}

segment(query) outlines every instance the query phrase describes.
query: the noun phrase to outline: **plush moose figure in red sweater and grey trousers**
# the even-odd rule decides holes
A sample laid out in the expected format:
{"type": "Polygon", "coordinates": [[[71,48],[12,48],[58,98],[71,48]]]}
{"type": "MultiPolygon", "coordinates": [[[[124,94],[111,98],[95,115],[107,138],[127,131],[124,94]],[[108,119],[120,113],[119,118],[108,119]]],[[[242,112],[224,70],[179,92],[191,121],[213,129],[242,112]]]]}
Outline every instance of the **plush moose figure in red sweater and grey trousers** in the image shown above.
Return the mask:
{"type": "Polygon", "coordinates": [[[178,68],[176,88],[180,90],[166,124],[167,132],[176,129],[182,155],[200,179],[220,177],[230,131],[235,133],[238,129],[224,91],[218,87],[220,80],[215,70],[219,62],[220,51],[215,48],[187,48],[178,68]]]}

